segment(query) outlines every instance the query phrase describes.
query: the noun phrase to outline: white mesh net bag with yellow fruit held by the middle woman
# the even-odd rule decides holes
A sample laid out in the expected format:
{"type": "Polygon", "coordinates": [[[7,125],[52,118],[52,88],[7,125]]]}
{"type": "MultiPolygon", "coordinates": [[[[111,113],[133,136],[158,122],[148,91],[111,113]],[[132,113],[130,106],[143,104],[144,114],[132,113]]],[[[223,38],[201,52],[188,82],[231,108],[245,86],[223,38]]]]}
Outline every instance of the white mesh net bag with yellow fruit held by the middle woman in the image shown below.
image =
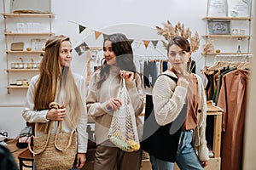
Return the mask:
{"type": "Polygon", "coordinates": [[[113,112],[108,139],[121,150],[128,152],[139,150],[135,113],[125,86],[125,79],[122,79],[117,98],[121,100],[122,105],[113,112]]]}

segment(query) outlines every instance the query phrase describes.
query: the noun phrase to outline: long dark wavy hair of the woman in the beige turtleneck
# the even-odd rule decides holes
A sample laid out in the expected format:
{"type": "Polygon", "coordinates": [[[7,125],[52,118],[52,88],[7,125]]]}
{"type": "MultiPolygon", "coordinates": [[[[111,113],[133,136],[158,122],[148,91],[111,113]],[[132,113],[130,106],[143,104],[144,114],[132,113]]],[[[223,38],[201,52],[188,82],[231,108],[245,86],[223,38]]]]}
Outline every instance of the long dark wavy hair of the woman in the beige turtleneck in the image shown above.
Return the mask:
{"type": "MultiPolygon", "coordinates": [[[[112,42],[113,53],[116,55],[116,65],[120,70],[135,72],[136,66],[133,62],[133,51],[128,38],[122,33],[116,33],[104,37],[103,44],[105,44],[106,41],[112,42]]],[[[101,67],[100,80],[97,82],[97,88],[101,88],[102,82],[108,78],[109,69],[110,65],[104,60],[101,67]]]]}

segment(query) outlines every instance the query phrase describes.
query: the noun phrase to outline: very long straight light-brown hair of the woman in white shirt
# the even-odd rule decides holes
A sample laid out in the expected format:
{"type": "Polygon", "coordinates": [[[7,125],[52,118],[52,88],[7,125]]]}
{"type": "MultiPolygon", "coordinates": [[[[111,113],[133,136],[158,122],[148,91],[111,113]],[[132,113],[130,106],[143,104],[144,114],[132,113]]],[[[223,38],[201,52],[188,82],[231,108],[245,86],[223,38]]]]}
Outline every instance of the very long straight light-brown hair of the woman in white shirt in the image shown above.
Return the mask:
{"type": "MultiPolygon", "coordinates": [[[[76,127],[79,117],[84,111],[84,104],[79,94],[79,89],[73,79],[73,73],[69,67],[62,67],[59,51],[61,42],[69,41],[69,37],[50,37],[45,43],[45,53],[40,65],[38,82],[35,87],[34,110],[41,111],[49,109],[49,103],[55,101],[55,96],[65,90],[62,96],[67,109],[66,118],[69,119],[70,127],[76,127]],[[67,83],[68,82],[68,83],[67,83]],[[60,87],[58,88],[58,84],[60,87]],[[64,95],[64,94],[63,94],[64,95]]],[[[65,118],[65,119],[66,119],[65,118]]],[[[45,123],[38,124],[38,131],[44,130],[45,123]]]]}

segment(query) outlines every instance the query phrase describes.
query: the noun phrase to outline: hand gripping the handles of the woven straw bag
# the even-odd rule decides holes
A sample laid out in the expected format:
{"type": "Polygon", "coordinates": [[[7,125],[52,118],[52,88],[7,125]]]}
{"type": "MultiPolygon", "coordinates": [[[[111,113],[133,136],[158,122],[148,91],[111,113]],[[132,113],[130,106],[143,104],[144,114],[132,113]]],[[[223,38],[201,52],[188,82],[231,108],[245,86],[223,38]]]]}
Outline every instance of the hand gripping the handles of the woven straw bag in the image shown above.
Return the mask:
{"type": "Polygon", "coordinates": [[[52,108],[47,112],[46,119],[51,121],[63,121],[67,116],[65,106],[61,106],[60,109],[52,108]]]}

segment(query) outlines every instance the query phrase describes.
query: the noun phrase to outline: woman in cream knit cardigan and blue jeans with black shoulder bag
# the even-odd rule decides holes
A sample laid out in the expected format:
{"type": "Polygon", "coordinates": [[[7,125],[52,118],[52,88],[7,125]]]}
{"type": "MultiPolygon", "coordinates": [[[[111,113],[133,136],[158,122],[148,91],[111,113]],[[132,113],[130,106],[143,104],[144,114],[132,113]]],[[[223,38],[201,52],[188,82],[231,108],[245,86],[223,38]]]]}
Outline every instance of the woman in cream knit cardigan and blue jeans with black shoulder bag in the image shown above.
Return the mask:
{"type": "MultiPolygon", "coordinates": [[[[201,77],[190,73],[191,51],[184,37],[174,37],[167,47],[172,68],[163,72],[177,77],[174,82],[166,76],[158,77],[153,89],[154,115],[156,122],[164,126],[173,122],[183,105],[187,116],[181,123],[182,131],[177,146],[175,161],[181,169],[203,169],[207,166],[208,149],[205,136],[207,99],[201,77]],[[196,154],[197,148],[198,155],[196,154]]],[[[153,170],[173,169],[173,162],[160,160],[150,155],[153,170]]]]}

